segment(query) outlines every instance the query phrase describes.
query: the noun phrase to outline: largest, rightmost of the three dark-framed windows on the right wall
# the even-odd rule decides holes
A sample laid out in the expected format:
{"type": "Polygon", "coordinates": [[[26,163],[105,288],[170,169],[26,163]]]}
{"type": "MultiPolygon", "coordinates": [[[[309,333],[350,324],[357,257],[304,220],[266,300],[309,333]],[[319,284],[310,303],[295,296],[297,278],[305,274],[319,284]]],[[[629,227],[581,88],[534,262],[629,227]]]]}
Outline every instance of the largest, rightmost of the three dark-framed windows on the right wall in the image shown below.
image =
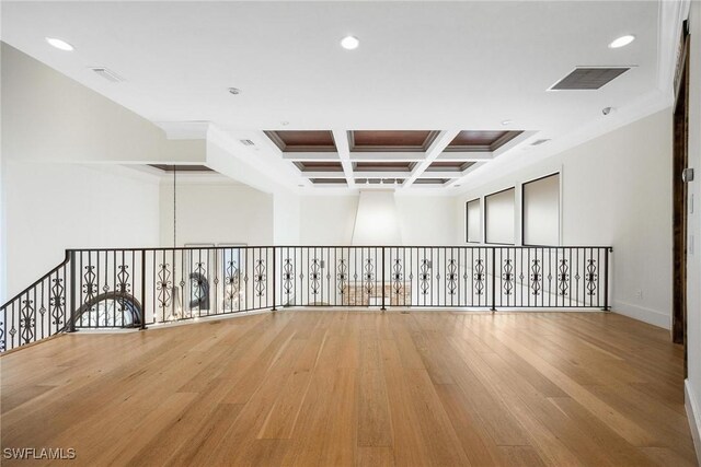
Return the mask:
{"type": "Polygon", "coordinates": [[[524,245],[560,245],[560,174],[524,184],[524,245]]]}

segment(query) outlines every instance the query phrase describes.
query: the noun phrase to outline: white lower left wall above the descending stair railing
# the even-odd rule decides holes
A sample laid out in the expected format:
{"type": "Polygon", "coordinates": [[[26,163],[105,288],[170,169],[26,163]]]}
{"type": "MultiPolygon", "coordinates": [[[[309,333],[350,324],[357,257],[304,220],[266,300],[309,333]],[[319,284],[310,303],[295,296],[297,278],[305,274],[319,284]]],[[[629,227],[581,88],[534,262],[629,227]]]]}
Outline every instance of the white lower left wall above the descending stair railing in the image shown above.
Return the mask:
{"type": "Polygon", "coordinates": [[[157,246],[158,178],[113,165],[4,161],[5,295],[58,265],[66,248],[157,246]]]}

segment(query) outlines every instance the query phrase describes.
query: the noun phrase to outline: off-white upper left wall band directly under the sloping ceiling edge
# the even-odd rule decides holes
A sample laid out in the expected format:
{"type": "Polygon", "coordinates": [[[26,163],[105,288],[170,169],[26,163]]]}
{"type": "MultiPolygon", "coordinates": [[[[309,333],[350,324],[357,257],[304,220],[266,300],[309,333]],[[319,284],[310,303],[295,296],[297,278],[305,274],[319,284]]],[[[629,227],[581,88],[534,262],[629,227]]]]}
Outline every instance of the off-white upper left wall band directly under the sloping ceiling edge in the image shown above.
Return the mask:
{"type": "Polygon", "coordinates": [[[2,43],[3,157],[45,162],[205,161],[147,119],[2,43]]]}

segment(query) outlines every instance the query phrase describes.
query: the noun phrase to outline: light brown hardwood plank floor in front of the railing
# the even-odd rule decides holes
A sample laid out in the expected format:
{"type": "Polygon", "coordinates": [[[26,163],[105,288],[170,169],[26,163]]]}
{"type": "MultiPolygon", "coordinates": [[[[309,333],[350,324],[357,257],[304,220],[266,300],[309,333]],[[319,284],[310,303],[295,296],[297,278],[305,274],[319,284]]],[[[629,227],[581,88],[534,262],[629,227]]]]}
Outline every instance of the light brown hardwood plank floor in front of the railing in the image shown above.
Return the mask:
{"type": "Polygon", "coordinates": [[[604,313],[77,334],[0,358],[1,444],[90,466],[689,466],[681,362],[666,331],[604,313]]]}

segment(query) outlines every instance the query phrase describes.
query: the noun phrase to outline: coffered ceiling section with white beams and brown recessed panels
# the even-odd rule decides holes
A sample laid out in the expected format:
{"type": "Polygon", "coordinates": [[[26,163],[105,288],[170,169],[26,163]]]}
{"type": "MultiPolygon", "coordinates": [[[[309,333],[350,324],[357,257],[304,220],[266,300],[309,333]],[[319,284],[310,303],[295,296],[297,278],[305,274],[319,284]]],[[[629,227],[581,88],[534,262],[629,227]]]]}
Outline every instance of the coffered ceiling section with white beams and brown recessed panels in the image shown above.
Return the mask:
{"type": "Polygon", "coordinates": [[[448,186],[494,159],[524,131],[267,130],[265,135],[314,186],[407,188],[448,186]]]}

